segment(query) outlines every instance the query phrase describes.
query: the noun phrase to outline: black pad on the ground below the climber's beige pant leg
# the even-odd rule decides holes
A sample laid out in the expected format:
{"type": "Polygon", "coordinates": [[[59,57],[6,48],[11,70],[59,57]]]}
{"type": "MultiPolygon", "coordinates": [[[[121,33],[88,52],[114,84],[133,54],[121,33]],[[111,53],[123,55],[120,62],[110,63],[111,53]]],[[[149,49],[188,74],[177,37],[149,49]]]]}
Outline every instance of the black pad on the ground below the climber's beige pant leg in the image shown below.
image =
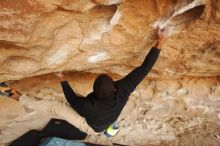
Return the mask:
{"type": "Polygon", "coordinates": [[[59,137],[69,140],[83,140],[87,136],[78,128],[60,119],[51,119],[47,126],[41,130],[31,130],[14,140],[9,146],[38,146],[43,138],[59,137]]]}

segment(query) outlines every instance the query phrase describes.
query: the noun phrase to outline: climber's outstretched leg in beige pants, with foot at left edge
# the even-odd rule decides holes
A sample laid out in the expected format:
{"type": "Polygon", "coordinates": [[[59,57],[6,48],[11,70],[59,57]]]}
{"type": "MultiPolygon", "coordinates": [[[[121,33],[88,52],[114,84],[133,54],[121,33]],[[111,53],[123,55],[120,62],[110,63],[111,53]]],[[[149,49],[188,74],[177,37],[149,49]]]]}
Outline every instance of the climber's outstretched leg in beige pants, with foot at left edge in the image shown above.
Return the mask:
{"type": "Polygon", "coordinates": [[[17,100],[27,109],[32,109],[41,112],[50,112],[62,117],[70,124],[79,128],[81,131],[87,134],[96,134],[94,130],[87,124],[85,118],[81,117],[73,108],[67,103],[63,103],[57,100],[45,100],[34,97],[30,94],[20,94],[15,88],[9,86],[0,86],[0,93],[4,95],[9,92],[10,98],[17,100]]]}

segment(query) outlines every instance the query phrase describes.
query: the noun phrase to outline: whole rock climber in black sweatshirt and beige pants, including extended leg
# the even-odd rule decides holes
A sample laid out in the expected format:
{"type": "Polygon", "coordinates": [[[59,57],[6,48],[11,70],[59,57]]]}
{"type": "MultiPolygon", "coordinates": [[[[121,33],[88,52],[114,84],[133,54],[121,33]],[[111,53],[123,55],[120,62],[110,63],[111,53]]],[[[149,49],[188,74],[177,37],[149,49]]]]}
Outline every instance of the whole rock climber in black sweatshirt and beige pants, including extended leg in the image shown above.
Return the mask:
{"type": "MultiPolygon", "coordinates": [[[[85,98],[77,96],[68,82],[64,79],[64,75],[62,73],[57,73],[56,75],[61,81],[64,95],[69,105],[74,110],[71,111],[69,107],[67,108],[66,106],[68,105],[60,105],[54,107],[50,106],[52,109],[45,110],[54,111],[54,113],[64,117],[64,119],[78,127],[83,132],[104,132],[107,136],[114,136],[118,131],[117,123],[115,122],[117,121],[122,109],[126,105],[130,94],[135,90],[137,85],[144,79],[144,77],[150,72],[156,63],[162,49],[163,41],[163,30],[158,28],[157,43],[154,47],[151,48],[150,52],[145,57],[144,62],[140,66],[135,68],[124,78],[117,81],[113,81],[113,79],[107,74],[99,75],[95,79],[93,92],[88,94],[85,98]],[[65,112],[64,108],[68,109],[68,112],[65,112]],[[62,112],[60,110],[62,110],[62,112]],[[80,116],[76,116],[77,114],[80,116]],[[83,119],[76,120],[80,117],[83,119]]],[[[21,94],[18,93],[15,89],[2,87],[1,92],[12,94],[12,98],[20,100],[21,94]],[[14,92],[11,93],[10,91],[14,92]]],[[[25,98],[27,98],[27,96],[25,96],[25,98]]],[[[27,102],[25,99],[22,100],[24,100],[23,103],[33,104],[31,102],[35,102],[34,100],[29,102],[27,102]]],[[[38,102],[40,104],[40,102],[45,101],[38,102]]],[[[35,104],[34,106],[38,107],[39,104],[35,104]]],[[[54,104],[59,105],[60,103],[50,103],[50,105],[54,104]]],[[[49,102],[44,105],[49,105],[49,102]]]]}

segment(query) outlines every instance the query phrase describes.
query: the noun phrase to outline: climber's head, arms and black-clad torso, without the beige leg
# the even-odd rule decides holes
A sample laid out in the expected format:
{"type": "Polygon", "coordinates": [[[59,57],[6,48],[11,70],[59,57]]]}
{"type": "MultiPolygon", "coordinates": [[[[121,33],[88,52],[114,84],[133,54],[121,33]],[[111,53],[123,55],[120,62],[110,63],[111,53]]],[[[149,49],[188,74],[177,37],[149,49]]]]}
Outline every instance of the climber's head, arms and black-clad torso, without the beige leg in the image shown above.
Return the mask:
{"type": "Polygon", "coordinates": [[[95,79],[93,92],[88,94],[86,98],[77,96],[64,79],[63,74],[57,74],[68,103],[77,113],[85,117],[87,124],[95,132],[99,133],[107,129],[109,130],[107,134],[115,134],[112,128],[114,128],[115,121],[126,105],[129,95],[157,61],[164,39],[161,29],[157,31],[157,37],[157,44],[150,50],[141,66],[118,81],[113,81],[107,74],[99,75],[95,79]]]}

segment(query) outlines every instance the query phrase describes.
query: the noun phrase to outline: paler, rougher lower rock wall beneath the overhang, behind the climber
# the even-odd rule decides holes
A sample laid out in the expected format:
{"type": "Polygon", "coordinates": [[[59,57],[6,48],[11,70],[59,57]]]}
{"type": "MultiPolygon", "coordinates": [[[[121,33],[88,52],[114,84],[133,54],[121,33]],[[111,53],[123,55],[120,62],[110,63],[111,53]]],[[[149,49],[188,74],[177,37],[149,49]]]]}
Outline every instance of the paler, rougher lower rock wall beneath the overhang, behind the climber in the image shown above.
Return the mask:
{"type": "MultiPolygon", "coordinates": [[[[86,95],[91,92],[96,75],[65,75],[77,93],[86,95]]],[[[26,78],[12,82],[12,85],[22,93],[66,101],[53,74],[26,78]]],[[[0,144],[8,143],[29,129],[42,128],[52,116],[35,111],[25,114],[24,107],[14,100],[0,99],[0,144]]],[[[116,142],[143,146],[218,146],[219,107],[220,79],[217,77],[146,79],[133,92],[124,108],[118,135],[113,139],[106,139],[103,135],[89,136],[86,141],[107,145],[116,142]]]]}

